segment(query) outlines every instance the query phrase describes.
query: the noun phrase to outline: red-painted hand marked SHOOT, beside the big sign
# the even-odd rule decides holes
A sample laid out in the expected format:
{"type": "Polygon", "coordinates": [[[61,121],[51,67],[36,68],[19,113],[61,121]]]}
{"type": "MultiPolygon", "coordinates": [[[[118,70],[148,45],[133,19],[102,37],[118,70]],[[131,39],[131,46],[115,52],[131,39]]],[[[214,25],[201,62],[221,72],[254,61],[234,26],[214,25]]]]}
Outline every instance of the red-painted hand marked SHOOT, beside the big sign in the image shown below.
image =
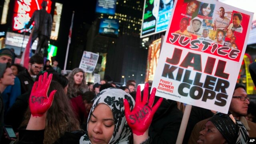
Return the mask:
{"type": "Polygon", "coordinates": [[[156,112],[163,100],[163,98],[160,98],[158,102],[156,102],[155,106],[152,107],[155,94],[156,88],[153,88],[148,101],[148,83],[146,83],[144,87],[143,100],[141,101],[140,86],[138,86],[135,106],[132,112],[130,111],[128,101],[124,99],[124,111],[126,120],[128,122],[128,125],[132,129],[132,132],[138,136],[144,134],[144,132],[148,130],[152,122],[154,113],[156,112]]]}

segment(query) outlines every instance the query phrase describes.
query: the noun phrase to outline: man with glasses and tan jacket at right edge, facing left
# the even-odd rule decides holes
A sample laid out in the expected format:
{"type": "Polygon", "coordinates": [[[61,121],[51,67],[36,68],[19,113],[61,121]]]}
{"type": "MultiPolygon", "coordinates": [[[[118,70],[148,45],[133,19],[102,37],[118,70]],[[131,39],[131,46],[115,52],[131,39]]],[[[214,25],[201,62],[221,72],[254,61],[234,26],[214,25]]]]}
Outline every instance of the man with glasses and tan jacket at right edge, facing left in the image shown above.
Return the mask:
{"type": "MultiPolygon", "coordinates": [[[[244,124],[249,137],[256,137],[256,123],[246,120],[245,116],[247,115],[249,98],[246,93],[246,88],[241,84],[236,84],[235,90],[232,96],[232,100],[229,106],[229,112],[244,124]]],[[[189,144],[196,144],[198,137],[200,136],[199,132],[204,129],[204,125],[208,122],[210,118],[198,122],[190,135],[189,144]]]]}

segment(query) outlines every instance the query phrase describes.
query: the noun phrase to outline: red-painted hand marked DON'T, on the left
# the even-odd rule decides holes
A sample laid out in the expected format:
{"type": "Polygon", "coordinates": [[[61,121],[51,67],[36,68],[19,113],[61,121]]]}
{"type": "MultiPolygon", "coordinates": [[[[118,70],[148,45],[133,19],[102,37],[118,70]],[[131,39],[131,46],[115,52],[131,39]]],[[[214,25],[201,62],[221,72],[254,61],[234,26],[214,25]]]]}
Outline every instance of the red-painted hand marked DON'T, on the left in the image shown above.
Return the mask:
{"type": "Polygon", "coordinates": [[[49,74],[47,78],[47,72],[44,72],[44,76],[40,75],[38,82],[34,82],[29,98],[29,108],[32,116],[42,116],[52,105],[57,90],[53,90],[50,96],[47,96],[51,81],[52,74],[49,74]]]}

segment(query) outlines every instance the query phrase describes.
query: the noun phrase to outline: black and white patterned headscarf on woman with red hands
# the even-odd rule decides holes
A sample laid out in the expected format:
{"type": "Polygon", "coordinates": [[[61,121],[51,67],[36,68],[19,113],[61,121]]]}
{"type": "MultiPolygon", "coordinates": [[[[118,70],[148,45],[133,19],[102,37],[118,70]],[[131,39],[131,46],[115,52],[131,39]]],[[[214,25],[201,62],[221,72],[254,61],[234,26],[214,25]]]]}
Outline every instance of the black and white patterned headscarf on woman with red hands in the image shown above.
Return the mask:
{"type": "MultiPolygon", "coordinates": [[[[130,110],[134,108],[135,102],[130,94],[118,88],[107,88],[102,90],[95,98],[90,111],[87,123],[89,123],[92,112],[100,103],[104,103],[110,107],[113,113],[115,128],[109,144],[128,144],[129,136],[132,134],[124,115],[124,98],[130,104],[130,110]]],[[[88,124],[87,124],[88,128],[88,124]]],[[[89,136],[84,134],[80,138],[80,144],[91,144],[89,136]]]]}

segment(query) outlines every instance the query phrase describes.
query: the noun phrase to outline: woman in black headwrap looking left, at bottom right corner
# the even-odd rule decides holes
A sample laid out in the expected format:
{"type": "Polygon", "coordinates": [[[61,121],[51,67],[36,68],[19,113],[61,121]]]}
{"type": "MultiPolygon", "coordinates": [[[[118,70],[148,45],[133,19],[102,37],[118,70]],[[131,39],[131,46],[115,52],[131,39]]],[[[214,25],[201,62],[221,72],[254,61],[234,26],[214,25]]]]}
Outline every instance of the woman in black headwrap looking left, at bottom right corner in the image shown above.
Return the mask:
{"type": "Polygon", "coordinates": [[[247,144],[248,132],[232,114],[216,113],[200,132],[198,144],[247,144]]]}

